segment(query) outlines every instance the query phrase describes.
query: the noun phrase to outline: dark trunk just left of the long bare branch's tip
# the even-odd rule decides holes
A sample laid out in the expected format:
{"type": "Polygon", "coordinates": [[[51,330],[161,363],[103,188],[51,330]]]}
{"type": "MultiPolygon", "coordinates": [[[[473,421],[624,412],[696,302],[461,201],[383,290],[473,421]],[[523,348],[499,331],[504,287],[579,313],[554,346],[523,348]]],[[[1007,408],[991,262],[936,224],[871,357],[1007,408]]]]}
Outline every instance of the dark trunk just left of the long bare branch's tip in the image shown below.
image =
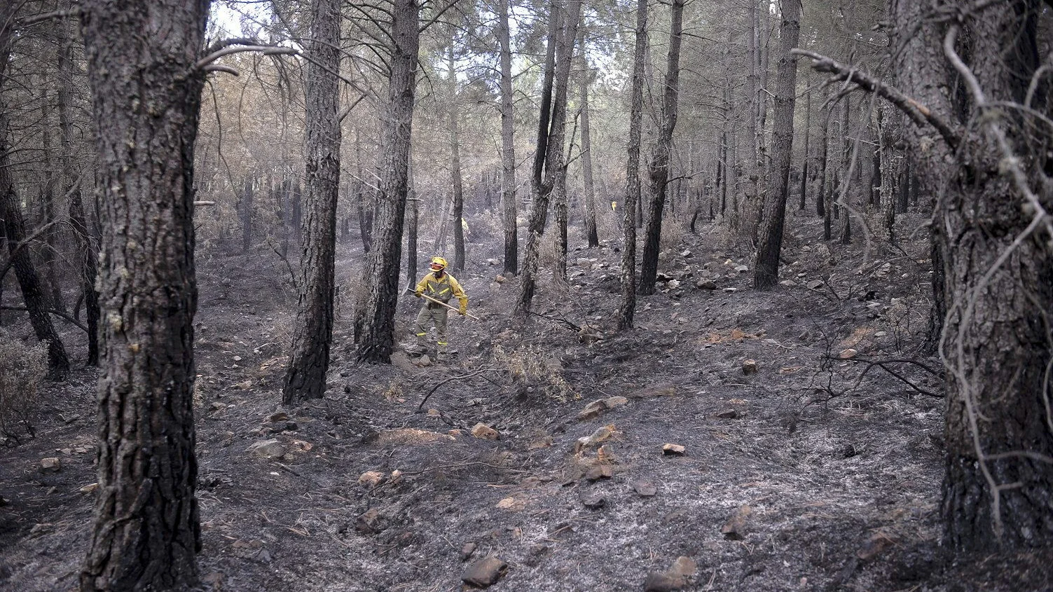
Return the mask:
{"type": "Polygon", "coordinates": [[[772,174],[769,179],[764,232],[757,248],[753,275],[755,290],[771,290],[779,282],[779,252],[790,193],[790,161],[793,157],[793,107],[797,93],[797,59],[790,51],[800,38],[800,0],[781,0],[779,56],[775,87],[775,130],[772,136],[772,174]]]}

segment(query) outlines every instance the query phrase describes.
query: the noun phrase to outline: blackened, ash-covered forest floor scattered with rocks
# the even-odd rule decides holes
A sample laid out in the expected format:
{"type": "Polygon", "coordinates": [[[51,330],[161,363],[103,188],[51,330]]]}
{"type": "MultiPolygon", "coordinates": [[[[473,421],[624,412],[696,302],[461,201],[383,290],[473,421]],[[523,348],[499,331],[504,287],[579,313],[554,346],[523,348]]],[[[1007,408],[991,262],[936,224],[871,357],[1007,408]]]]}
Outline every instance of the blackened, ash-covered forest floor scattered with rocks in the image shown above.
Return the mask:
{"type": "MultiPolygon", "coordinates": [[[[623,334],[617,244],[574,251],[526,322],[476,248],[457,275],[482,320],[453,318],[457,354],[426,367],[355,364],[344,294],[329,393],[296,409],[279,406],[283,264],[201,257],[203,589],[458,590],[493,555],[492,590],[642,590],[680,556],[686,590],[1048,590],[1037,554],[939,545],[928,245],[832,251],[804,228],[772,293],[718,237],[670,244],[623,334]],[[923,366],[886,364],[901,380],[870,363],[889,359],[923,366]]],[[[360,257],[341,259],[346,282],[360,257]]],[[[0,587],[23,592],[76,587],[94,497],[92,372],[44,400],[36,437],[0,451],[0,587]]]]}

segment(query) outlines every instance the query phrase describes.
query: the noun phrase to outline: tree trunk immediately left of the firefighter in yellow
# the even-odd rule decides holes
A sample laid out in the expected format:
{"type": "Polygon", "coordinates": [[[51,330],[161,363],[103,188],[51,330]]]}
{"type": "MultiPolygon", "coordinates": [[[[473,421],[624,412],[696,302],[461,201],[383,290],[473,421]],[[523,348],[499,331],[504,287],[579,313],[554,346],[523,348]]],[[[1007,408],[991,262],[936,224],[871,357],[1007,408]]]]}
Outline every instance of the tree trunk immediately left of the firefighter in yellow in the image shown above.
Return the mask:
{"type": "Polygon", "coordinates": [[[395,0],[391,37],[394,47],[380,142],[376,244],[362,278],[363,284],[370,287],[370,295],[364,308],[364,332],[358,343],[359,361],[372,363],[389,363],[395,347],[395,309],[398,304],[402,224],[410,184],[410,139],[420,47],[420,4],[417,0],[395,0]]]}

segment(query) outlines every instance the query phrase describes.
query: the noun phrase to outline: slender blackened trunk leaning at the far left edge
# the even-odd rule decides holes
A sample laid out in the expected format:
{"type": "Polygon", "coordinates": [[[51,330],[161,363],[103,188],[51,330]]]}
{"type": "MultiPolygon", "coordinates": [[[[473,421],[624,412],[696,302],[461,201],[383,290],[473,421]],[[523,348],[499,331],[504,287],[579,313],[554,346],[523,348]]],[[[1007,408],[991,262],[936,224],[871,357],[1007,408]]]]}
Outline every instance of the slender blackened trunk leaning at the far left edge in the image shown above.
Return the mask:
{"type": "MultiPolygon", "coordinates": [[[[14,3],[0,8],[0,92],[6,86],[7,61],[14,37],[12,25],[15,11],[14,3]]],[[[18,284],[22,290],[22,298],[25,300],[25,308],[29,313],[29,322],[37,334],[37,339],[47,343],[48,367],[53,372],[64,372],[69,368],[69,358],[66,356],[65,348],[55,331],[51,317],[47,316],[47,296],[44,287],[29,256],[29,249],[23,244],[26,237],[25,221],[22,218],[21,205],[15,192],[14,180],[11,177],[12,145],[8,143],[8,135],[7,105],[0,95],[0,219],[3,221],[3,234],[6,238],[11,262],[15,268],[15,277],[18,279],[18,284]]],[[[0,281],[2,279],[0,277],[0,281]]]]}

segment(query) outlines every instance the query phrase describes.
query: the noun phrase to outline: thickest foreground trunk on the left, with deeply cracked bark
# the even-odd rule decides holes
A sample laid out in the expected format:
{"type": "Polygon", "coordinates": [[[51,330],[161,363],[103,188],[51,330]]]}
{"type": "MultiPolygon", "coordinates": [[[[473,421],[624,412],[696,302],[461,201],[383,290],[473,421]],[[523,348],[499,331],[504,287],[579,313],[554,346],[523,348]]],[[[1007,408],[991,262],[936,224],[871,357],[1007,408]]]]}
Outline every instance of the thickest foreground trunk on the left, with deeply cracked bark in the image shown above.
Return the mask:
{"type": "Polygon", "coordinates": [[[208,1],[82,0],[102,226],[95,525],[81,590],[185,590],[194,455],[195,66],[208,1]]]}

